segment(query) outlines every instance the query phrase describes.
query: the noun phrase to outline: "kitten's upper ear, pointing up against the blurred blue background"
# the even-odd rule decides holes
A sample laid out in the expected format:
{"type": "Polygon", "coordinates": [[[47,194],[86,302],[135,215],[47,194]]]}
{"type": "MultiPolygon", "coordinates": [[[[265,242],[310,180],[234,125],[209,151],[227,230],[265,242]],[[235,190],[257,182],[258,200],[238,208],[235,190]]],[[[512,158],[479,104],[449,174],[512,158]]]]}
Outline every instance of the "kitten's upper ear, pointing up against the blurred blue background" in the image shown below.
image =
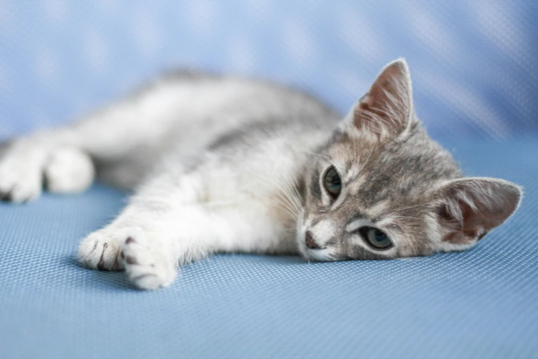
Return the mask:
{"type": "Polygon", "coordinates": [[[370,91],[352,108],[347,122],[361,133],[394,138],[413,120],[411,76],[407,63],[399,58],[385,66],[370,91]]]}

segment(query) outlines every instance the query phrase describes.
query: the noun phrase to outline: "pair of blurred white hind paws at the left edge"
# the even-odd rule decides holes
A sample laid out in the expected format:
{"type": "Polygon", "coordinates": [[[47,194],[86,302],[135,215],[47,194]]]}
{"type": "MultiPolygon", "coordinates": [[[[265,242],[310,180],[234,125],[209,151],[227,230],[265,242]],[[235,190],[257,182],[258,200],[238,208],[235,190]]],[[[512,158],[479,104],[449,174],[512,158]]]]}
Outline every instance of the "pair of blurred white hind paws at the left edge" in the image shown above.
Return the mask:
{"type": "Polygon", "coordinates": [[[32,138],[15,141],[0,159],[0,199],[32,201],[41,195],[43,179],[53,192],[83,191],[94,172],[89,156],[77,149],[52,149],[32,138]]]}

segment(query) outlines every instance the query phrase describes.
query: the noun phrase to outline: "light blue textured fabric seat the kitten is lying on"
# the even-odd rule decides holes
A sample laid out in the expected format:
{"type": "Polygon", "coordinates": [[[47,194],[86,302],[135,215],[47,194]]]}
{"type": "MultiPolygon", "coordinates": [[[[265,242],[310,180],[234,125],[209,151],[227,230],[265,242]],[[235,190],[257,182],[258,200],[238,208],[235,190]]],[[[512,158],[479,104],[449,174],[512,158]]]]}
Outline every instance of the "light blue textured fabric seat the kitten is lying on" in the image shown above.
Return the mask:
{"type": "Polygon", "coordinates": [[[220,255],[169,288],[80,268],[78,239],[124,194],[0,205],[1,358],[537,358],[538,139],[446,141],[469,175],[525,187],[469,252],[306,263],[220,255]]]}

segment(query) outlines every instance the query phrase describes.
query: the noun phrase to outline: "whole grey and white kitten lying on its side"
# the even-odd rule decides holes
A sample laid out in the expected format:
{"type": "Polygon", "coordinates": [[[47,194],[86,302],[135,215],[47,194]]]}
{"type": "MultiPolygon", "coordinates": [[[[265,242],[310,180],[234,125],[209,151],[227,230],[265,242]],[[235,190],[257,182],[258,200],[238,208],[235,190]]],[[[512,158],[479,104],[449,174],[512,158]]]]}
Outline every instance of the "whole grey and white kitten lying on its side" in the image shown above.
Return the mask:
{"type": "Polygon", "coordinates": [[[89,268],[137,287],[215,252],[391,259],[465,250],[522,189],[462,177],[416,119],[409,70],[390,63],[348,115],[256,80],[180,73],[69,127],[10,142],[3,199],[83,191],[95,174],[135,189],[82,240],[89,268]]]}

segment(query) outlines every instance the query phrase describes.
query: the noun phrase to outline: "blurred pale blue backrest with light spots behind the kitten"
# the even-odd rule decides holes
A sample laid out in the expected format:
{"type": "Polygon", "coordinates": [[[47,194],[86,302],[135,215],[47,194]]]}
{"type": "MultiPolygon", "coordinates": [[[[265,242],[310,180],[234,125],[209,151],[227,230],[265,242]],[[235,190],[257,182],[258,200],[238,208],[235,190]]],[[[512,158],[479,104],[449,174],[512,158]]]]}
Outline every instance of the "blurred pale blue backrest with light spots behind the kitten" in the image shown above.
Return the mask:
{"type": "Polygon", "coordinates": [[[291,83],[344,112],[399,56],[434,137],[528,136],[537,19],[537,1],[0,0],[0,138],[177,66],[291,83]]]}

